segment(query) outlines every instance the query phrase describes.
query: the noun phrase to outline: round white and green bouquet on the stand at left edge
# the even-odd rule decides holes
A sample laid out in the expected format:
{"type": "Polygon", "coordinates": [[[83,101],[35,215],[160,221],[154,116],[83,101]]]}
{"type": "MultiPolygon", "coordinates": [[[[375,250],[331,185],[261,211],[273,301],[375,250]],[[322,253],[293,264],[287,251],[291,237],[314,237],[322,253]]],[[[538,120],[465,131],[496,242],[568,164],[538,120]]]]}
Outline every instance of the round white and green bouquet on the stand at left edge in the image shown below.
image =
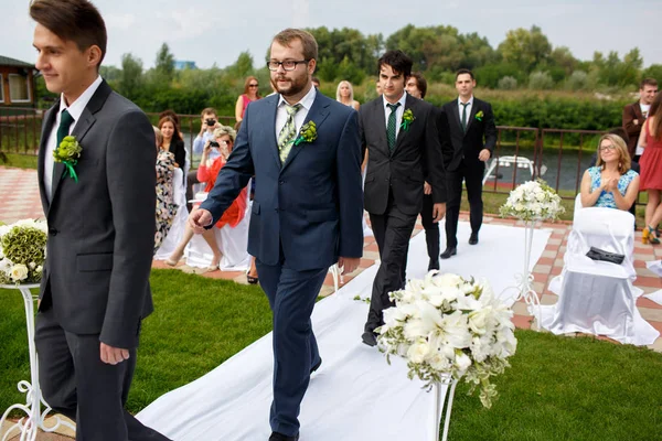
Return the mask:
{"type": "Polygon", "coordinates": [[[46,258],[45,222],[23,219],[0,225],[0,284],[33,283],[46,258]]]}

